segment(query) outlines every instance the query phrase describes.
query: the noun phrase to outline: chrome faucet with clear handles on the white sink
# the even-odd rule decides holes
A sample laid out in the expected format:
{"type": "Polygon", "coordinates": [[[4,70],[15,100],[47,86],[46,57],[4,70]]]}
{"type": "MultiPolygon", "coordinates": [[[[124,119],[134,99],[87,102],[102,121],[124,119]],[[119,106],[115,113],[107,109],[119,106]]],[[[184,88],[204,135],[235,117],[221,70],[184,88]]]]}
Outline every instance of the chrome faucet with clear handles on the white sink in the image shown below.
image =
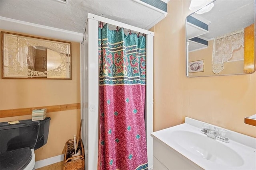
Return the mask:
{"type": "Polygon", "coordinates": [[[203,125],[203,129],[201,130],[201,133],[204,135],[207,135],[208,137],[212,139],[217,139],[222,142],[229,143],[228,138],[226,137],[226,130],[224,129],[218,129],[216,127],[212,127],[208,124],[203,125]]]}

